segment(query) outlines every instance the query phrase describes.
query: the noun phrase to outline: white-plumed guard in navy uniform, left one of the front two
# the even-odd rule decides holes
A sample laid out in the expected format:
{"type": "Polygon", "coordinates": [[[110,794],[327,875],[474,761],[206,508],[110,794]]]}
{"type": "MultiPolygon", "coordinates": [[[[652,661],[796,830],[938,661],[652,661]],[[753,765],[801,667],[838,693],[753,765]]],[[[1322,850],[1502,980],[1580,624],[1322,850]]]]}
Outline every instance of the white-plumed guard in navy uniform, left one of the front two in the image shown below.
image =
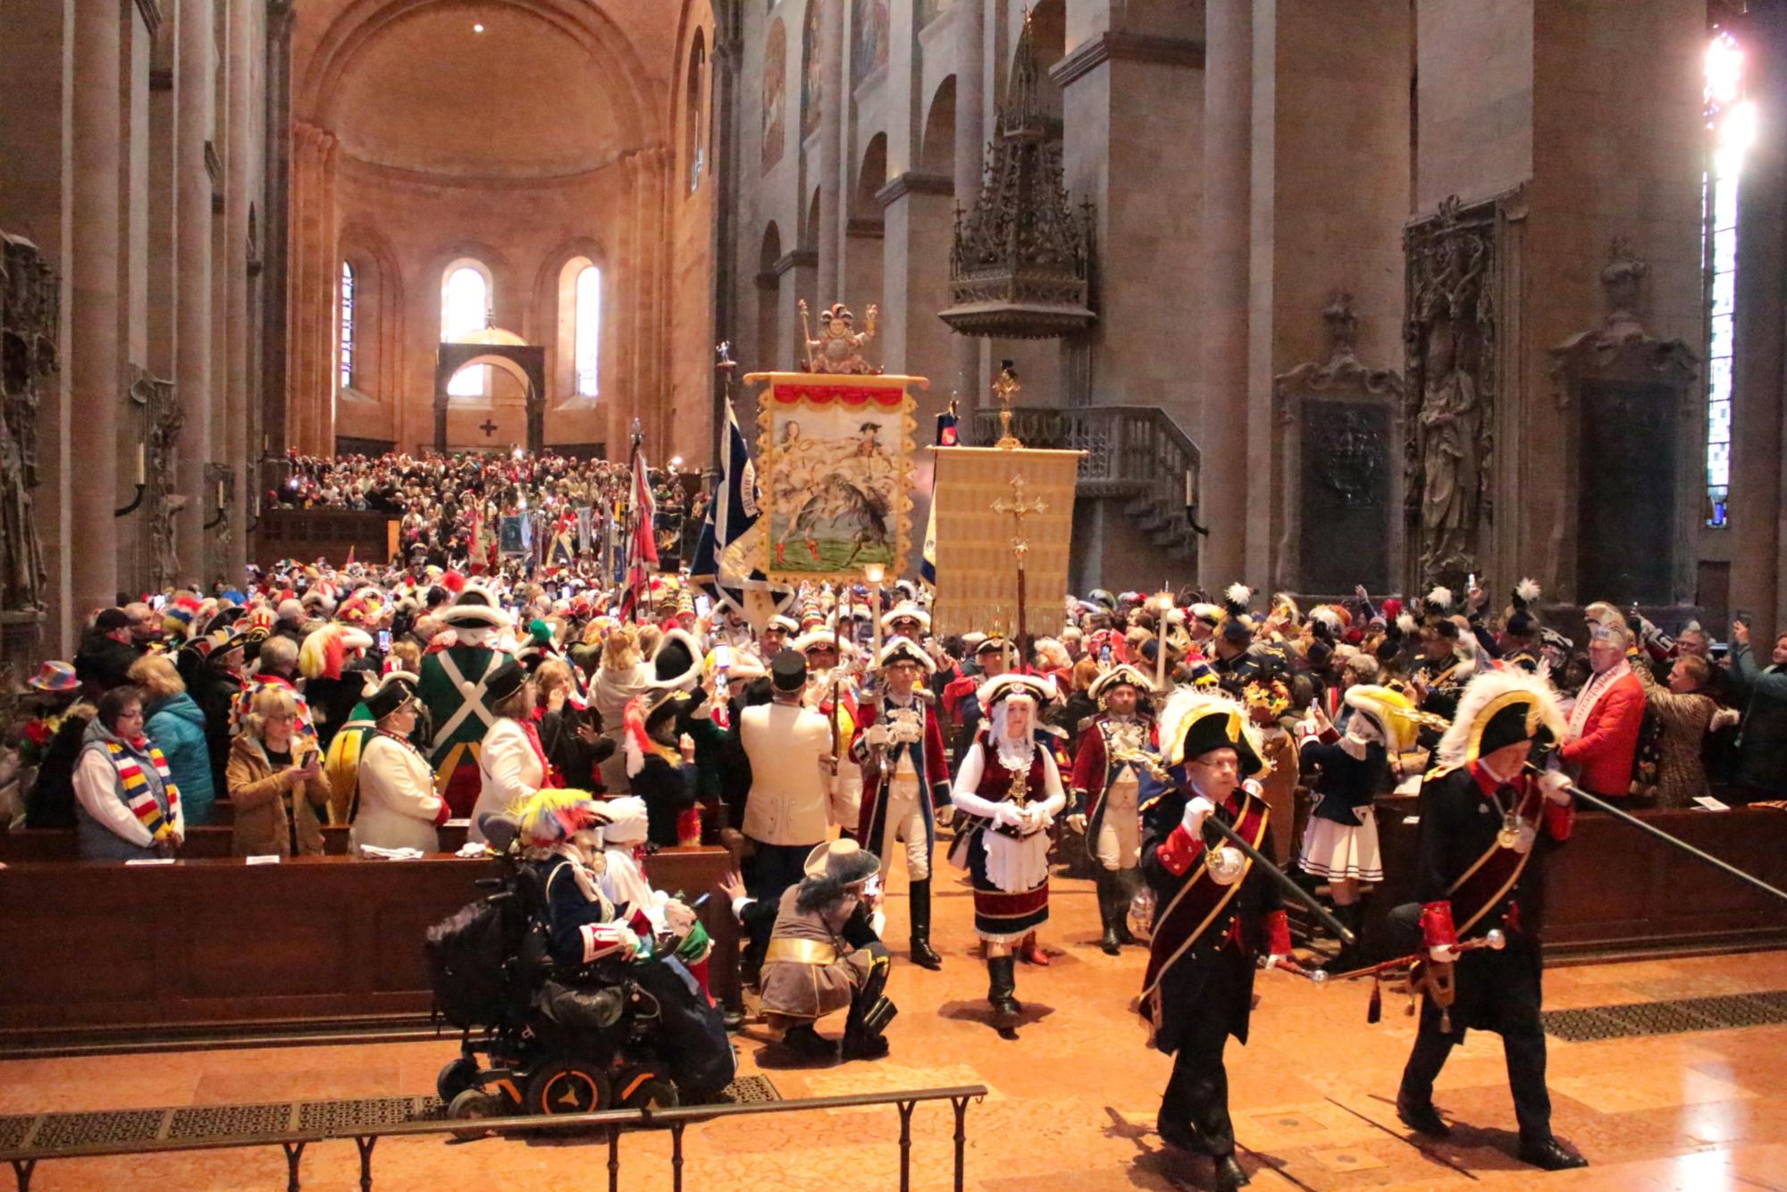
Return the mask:
{"type": "Polygon", "coordinates": [[[1229,1035],[1247,1042],[1254,958],[1290,963],[1290,928],[1272,879],[1204,835],[1215,815],[1272,852],[1271,810],[1256,785],[1244,785],[1265,768],[1247,711],[1228,695],[1183,688],[1162,711],[1160,747],[1174,785],[1151,779],[1142,797],[1142,876],[1154,890],[1154,922],[1138,1010],[1154,1047],[1176,1056],[1160,1137],[1210,1154],[1226,1192],[1247,1183],[1247,1172],[1235,1162],[1222,1049],[1229,1035]]]}

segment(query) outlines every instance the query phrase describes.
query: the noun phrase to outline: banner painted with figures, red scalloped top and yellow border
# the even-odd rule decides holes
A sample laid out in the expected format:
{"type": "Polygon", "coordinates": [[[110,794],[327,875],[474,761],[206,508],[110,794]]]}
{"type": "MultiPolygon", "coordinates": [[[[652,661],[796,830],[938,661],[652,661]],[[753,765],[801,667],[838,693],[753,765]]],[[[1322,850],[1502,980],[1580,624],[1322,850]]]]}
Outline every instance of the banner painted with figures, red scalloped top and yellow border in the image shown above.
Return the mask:
{"type": "Polygon", "coordinates": [[[924,377],[751,374],[758,395],[763,534],[772,581],[860,579],[906,570],[913,416],[924,377]]]}

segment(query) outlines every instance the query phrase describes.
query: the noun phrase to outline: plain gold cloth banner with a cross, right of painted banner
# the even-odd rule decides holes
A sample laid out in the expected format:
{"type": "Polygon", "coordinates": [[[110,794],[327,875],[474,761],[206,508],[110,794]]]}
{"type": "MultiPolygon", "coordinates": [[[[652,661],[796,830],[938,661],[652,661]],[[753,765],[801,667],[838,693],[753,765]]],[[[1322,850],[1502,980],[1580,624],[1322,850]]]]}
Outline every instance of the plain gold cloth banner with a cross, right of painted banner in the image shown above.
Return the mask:
{"type": "Polygon", "coordinates": [[[1024,558],[1029,633],[1040,638],[1058,631],[1074,536],[1074,481],[1085,452],[997,447],[933,447],[931,452],[936,457],[933,633],[1017,633],[1013,538],[1029,543],[1024,558]],[[1013,502],[1017,479],[1022,479],[1024,502],[1040,499],[1044,504],[1022,522],[994,509],[995,502],[1013,502]]]}

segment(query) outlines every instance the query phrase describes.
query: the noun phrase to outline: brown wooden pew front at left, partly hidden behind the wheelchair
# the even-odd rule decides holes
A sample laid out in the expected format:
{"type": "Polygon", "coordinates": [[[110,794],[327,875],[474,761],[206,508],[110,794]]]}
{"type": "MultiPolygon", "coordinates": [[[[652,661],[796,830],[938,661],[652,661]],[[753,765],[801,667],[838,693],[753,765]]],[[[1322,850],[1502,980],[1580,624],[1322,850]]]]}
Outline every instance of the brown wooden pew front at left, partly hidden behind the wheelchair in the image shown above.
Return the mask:
{"type": "MultiPolygon", "coordinates": [[[[225,829],[227,831],[227,829],[225,829]]],[[[711,890],[726,849],[667,849],[652,885],[711,890]]],[[[264,1031],[327,1020],[413,1022],[432,997],[424,933],[484,890],[491,860],[347,856],[281,865],[182,860],[7,861],[0,869],[0,1044],[154,1037],[157,1028],[264,1031]]],[[[736,994],[738,924],[702,908],[715,997],[736,994]]]]}

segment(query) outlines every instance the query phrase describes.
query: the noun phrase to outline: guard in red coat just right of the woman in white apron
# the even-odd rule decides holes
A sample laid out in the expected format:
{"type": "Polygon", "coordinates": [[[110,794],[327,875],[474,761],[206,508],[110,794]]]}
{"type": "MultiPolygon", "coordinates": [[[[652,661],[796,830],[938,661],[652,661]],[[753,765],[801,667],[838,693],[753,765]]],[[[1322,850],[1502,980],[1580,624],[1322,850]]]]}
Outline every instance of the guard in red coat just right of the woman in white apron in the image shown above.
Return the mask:
{"type": "Polygon", "coordinates": [[[1154,718],[1142,699],[1154,692],[1135,667],[1112,667],[1086,688],[1099,715],[1079,733],[1074,754],[1072,813],[1067,822],[1085,833],[1086,856],[1099,892],[1099,947],[1117,956],[1129,935],[1129,899],[1137,865],[1142,861],[1142,817],[1138,792],[1147,770],[1144,758],[1156,751],[1154,718]]]}

